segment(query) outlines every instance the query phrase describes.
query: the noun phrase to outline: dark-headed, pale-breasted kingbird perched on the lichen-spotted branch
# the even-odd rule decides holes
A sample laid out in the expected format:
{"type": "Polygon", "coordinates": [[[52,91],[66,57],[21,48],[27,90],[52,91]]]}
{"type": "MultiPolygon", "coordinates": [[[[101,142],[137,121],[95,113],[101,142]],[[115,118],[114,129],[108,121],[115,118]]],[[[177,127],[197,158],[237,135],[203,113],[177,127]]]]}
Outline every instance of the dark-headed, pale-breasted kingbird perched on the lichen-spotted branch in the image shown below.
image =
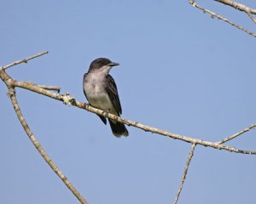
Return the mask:
{"type": "MultiPolygon", "coordinates": [[[[90,105],[102,109],[102,111],[120,116],[122,114],[122,108],[118,90],[113,77],[108,74],[115,65],[119,65],[119,63],[114,63],[107,58],[93,60],[90,64],[89,71],[84,74],[83,88],[84,95],[90,105]]],[[[106,117],[99,117],[102,119],[102,122],[107,124],[106,117]]],[[[123,123],[111,119],[108,119],[108,122],[114,136],[128,136],[129,133],[123,123]]]]}

